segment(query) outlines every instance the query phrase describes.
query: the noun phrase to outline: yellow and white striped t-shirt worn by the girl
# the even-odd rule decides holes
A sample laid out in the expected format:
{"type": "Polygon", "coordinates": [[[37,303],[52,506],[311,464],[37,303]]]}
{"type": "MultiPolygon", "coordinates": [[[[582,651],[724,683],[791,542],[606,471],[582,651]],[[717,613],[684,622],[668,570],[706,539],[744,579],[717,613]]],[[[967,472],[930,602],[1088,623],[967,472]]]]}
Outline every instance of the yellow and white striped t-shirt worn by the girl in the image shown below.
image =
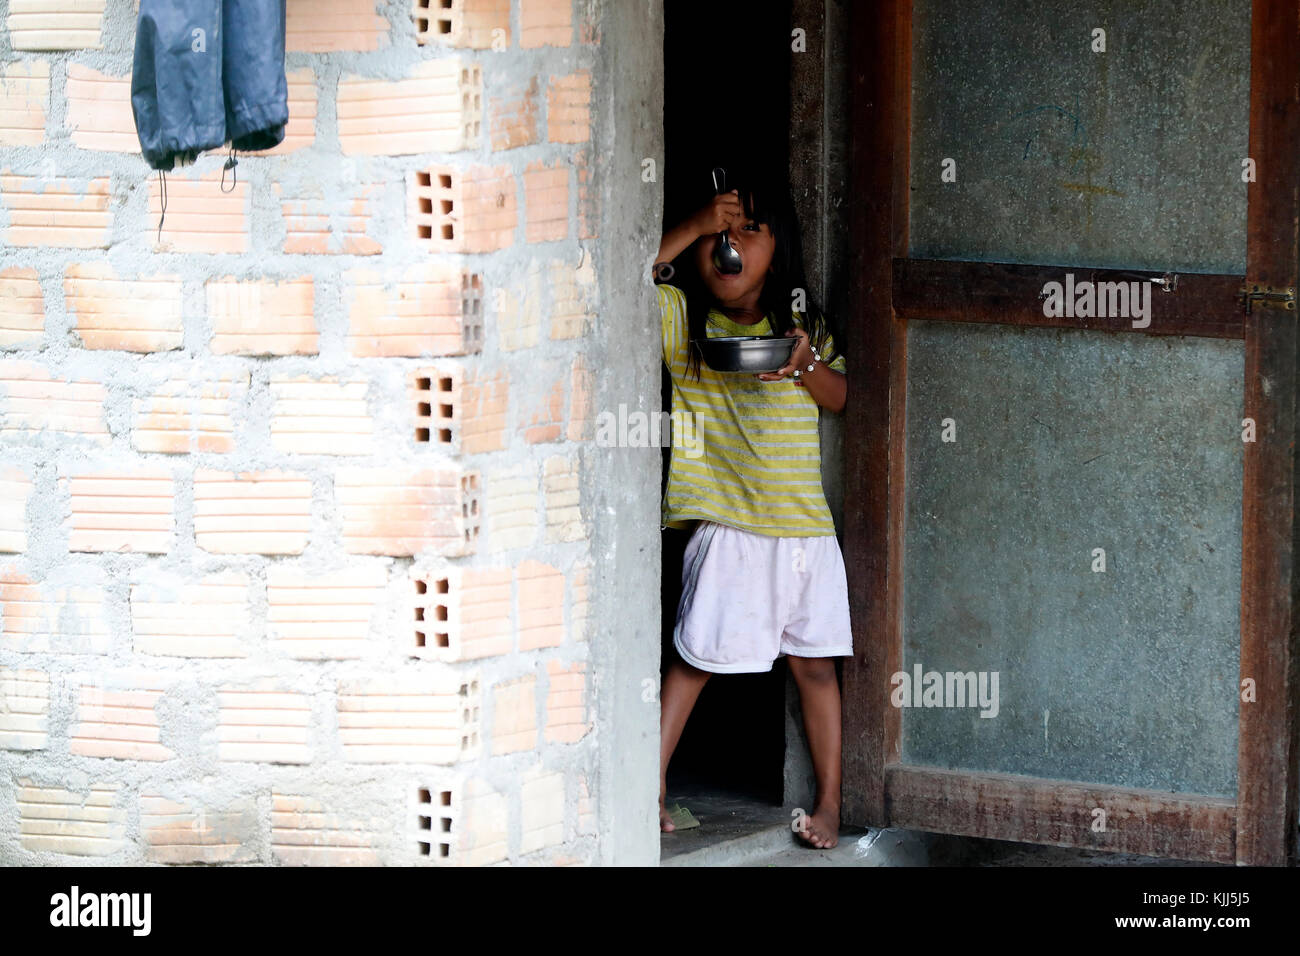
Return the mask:
{"type": "MultiPolygon", "coordinates": [[[[812,395],[792,378],[767,382],[751,373],[715,372],[705,362],[698,381],[694,373],[688,377],[685,293],[671,285],[656,289],[675,432],[663,524],[684,528],[706,519],[758,535],[833,535],[822,490],[820,407],[812,395]]],[[[801,325],[798,313],[793,315],[801,325]]],[[[774,333],[766,317],[741,325],[714,310],[707,334],[774,333]]],[[[844,356],[832,341],[822,354],[831,368],[844,371],[844,356]]]]}

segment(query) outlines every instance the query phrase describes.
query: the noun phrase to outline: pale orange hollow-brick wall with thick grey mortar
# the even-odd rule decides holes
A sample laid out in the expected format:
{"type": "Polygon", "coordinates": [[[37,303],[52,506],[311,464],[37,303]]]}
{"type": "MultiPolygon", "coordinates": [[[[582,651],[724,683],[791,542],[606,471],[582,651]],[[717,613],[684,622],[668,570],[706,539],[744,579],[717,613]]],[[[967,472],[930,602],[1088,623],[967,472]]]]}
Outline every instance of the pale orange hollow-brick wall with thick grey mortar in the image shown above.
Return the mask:
{"type": "Polygon", "coordinates": [[[0,862],[598,860],[601,9],[289,0],[160,230],[133,1],[0,7],[0,862]]]}

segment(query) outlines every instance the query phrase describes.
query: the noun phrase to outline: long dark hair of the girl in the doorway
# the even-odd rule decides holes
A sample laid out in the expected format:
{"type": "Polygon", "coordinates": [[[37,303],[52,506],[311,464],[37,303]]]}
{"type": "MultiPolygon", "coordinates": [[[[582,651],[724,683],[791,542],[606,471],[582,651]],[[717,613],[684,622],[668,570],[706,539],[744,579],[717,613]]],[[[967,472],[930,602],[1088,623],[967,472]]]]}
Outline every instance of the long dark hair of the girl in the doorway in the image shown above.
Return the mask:
{"type": "MultiPolygon", "coordinates": [[[[809,293],[803,273],[803,241],[800,235],[800,221],[794,212],[789,183],[771,172],[742,168],[736,168],[733,172],[732,168],[728,168],[727,189],[734,189],[740,194],[746,216],[755,222],[766,222],[772,232],[775,241],[772,271],[763,282],[763,291],[758,299],[759,308],[771,323],[772,333],[784,336],[794,326],[792,312],[797,304],[796,297],[802,291],[800,297],[802,303],[798,303],[803,306],[800,312],[800,323],[807,329],[809,339],[822,355],[823,362],[829,363],[844,351],[844,337],[840,334],[837,323],[818,307],[809,293]],[[832,352],[826,351],[827,337],[835,338],[832,352]]],[[[710,194],[701,195],[694,208],[703,206],[710,194]]],[[[711,243],[714,237],[701,235],[696,242],[711,243]]],[[[711,308],[720,310],[720,303],[712,297],[708,286],[696,271],[694,243],[682,252],[675,267],[681,267],[677,272],[676,285],[686,295],[686,325],[690,334],[686,369],[688,375],[693,371],[698,380],[702,354],[696,339],[707,337],[708,311],[711,308]]]]}

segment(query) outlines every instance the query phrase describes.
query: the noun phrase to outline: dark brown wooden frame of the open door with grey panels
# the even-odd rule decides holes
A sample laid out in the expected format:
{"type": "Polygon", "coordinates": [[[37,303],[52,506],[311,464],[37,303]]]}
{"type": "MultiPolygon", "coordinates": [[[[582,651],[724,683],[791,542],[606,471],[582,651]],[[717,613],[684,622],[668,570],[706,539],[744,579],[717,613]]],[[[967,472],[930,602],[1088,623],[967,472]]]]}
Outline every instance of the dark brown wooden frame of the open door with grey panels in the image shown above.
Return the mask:
{"type": "MultiPolygon", "coordinates": [[[[907,259],[911,0],[850,5],[852,232],[844,541],[854,656],[844,669],[844,819],[1186,860],[1280,865],[1296,856],[1300,684],[1297,312],[1240,290],[1296,287],[1300,264],[1300,0],[1251,12],[1247,274],[1180,274],[1161,323],[1046,319],[1037,293],[1062,267],[907,259]],[[904,765],[889,676],[902,659],[906,324],[910,319],[1239,338],[1245,349],[1242,679],[1235,800],[904,765]],[[1265,388],[1268,382],[1268,388],[1265,388]],[[1092,808],[1106,809],[1105,832],[1092,808]]],[[[1076,273],[1088,269],[1070,267],[1076,273]]],[[[1100,271],[1092,271],[1093,273],[1100,271]]],[[[1091,276],[1084,276],[1091,277],[1091,276]]],[[[1157,293],[1158,295],[1158,293],[1157,293]]]]}

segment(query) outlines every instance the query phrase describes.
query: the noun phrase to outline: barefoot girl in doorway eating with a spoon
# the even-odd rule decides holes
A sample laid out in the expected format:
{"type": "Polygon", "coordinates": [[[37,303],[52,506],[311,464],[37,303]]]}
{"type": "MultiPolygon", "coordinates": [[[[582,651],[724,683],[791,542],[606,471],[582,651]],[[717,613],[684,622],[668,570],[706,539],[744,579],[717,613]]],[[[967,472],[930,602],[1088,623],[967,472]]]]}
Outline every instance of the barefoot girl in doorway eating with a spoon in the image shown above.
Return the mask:
{"type": "MultiPolygon", "coordinates": [[[[686,545],[673,646],[663,682],[659,826],[668,761],[710,674],[768,671],[786,657],[800,688],[816,771],[811,817],[796,827],[812,847],[838,842],[840,687],[832,658],[853,653],[844,558],[822,490],[818,406],[844,408],[845,360],[803,281],[802,245],[789,189],[736,181],[671,229],[664,264],[694,245],[677,285],[658,286],[663,360],[672,376],[672,420],[690,418],[703,454],[673,447],[663,499],[666,527],[694,532],[686,545]],[[736,274],[714,263],[718,234],[740,254],[736,274]],[[693,339],[798,338],[777,372],[715,372],[693,339]]],[[[697,451],[697,449],[693,449],[697,451]]]]}

